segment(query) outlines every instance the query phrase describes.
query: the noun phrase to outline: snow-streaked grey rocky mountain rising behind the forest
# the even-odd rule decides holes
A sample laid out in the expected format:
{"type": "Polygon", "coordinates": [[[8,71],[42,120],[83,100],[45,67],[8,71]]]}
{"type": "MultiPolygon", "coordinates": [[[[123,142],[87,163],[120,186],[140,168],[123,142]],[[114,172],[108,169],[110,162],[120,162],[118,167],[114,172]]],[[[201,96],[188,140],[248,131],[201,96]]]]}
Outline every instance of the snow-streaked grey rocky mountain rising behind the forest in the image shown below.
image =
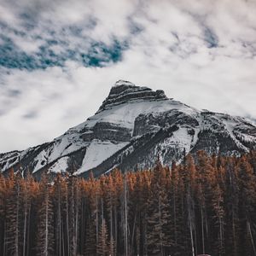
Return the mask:
{"type": "Polygon", "coordinates": [[[95,115],[54,141],[0,154],[0,170],[21,168],[35,177],[49,172],[96,176],[181,160],[184,152],[241,154],[256,149],[256,126],[241,117],[198,110],[151,90],[119,80],[95,115]]]}

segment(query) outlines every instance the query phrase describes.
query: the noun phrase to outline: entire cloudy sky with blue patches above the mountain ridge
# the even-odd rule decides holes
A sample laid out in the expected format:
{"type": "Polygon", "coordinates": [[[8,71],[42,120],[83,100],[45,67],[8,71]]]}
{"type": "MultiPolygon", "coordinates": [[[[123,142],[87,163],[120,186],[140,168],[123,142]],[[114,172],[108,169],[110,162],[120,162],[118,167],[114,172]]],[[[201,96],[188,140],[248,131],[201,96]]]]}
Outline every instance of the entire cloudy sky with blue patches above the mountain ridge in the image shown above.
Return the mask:
{"type": "Polygon", "coordinates": [[[0,152],[58,137],[116,80],[256,119],[254,0],[0,0],[0,152]]]}

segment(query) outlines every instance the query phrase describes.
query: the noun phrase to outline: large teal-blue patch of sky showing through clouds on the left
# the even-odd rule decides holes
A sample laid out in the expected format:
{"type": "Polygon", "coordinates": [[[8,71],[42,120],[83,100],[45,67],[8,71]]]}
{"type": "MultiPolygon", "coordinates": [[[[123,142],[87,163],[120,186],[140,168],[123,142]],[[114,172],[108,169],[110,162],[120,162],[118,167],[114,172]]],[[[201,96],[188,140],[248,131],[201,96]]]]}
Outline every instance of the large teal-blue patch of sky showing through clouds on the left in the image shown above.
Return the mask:
{"type": "MultiPolygon", "coordinates": [[[[79,30],[73,32],[79,33],[79,30]]],[[[19,49],[11,38],[3,35],[0,35],[0,38],[3,41],[0,44],[0,66],[27,70],[63,67],[68,60],[79,61],[84,67],[103,67],[121,61],[123,51],[128,48],[127,42],[119,42],[117,39],[113,39],[110,45],[91,42],[88,49],[79,45],[69,48],[65,42],[48,39],[36,52],[28,54],[19,49]],[[56,45],[60,46],[61,52],[55,53],[51,48],[56,45]]]]}

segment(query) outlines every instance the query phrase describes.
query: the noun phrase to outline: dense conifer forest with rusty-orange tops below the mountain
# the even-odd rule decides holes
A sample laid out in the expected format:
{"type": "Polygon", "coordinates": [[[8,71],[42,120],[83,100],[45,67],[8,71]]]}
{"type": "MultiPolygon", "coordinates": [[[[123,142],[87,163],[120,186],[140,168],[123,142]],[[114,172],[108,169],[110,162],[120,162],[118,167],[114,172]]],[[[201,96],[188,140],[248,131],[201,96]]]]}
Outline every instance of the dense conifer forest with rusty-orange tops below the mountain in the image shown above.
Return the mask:
{"type": "Polygon", "coordinates": [[[0,255],[256,255],[256,152],[88,179],[0,174],[0,255]]]}

